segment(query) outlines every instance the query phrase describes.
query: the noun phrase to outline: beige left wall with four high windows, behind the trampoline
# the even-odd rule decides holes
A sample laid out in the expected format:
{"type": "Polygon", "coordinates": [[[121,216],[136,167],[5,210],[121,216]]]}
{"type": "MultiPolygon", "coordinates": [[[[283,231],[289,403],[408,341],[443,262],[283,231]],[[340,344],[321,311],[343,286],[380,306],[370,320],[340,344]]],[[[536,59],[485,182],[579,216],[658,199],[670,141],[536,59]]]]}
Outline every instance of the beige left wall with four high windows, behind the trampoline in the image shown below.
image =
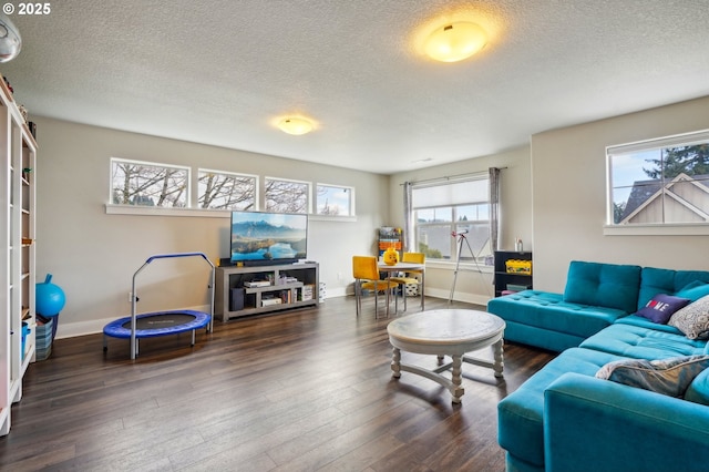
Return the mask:
{"type": "MultiPolygon", "coordinates": [[[[129,316],[133,274],[152,255],[203,252],[216,261],[229,254],[228,217],[106,215],[111,157],[354,187],[357,222],[309,224],[308,257],[320,263],[328,296],[345,294],[352,281],[351,256],[374,254],[377,228],[389,219],[387,176],[47,117],[33,121],[38,281],[51,273],[66,295],[59,337],[97,332],[129,316]]],[[[138,312],[206,304],[207,275],[208,265],[199,258],[151,264],[137,277],[138,312]]]]}

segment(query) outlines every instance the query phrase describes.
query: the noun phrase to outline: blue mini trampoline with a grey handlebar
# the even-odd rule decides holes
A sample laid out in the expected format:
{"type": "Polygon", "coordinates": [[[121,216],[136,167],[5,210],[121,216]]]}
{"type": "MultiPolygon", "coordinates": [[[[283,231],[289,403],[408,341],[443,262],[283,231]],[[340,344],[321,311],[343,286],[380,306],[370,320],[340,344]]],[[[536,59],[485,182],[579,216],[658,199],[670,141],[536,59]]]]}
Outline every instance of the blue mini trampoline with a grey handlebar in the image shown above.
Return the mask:
{"type": "Polygon", "coordinates": [[[109,349],[107,337],[131,339],[131,359],[135,359],[138,353],[138,339],[155,338],[158,336],[177,335],[181,332],[192,331],[192,343],[195,345],[195,332],[199,328],[205,328],[207,332],[212,330],[212,317],[214,314],[214,264],[203,253],[177,253],[162,254],[150,257],[140,269],[133,274],[131,316],[116,319],[107,324],[103,328],[103,350],[109,349]],[[136,315],[137,293],[135,289],[135,278],[153,260],[174,258],[174,257],[193,257],[199,256],[206,260],[212,270],[209,276],[209,314],[195,310],[169,310],[155,311],[136,315]]]}

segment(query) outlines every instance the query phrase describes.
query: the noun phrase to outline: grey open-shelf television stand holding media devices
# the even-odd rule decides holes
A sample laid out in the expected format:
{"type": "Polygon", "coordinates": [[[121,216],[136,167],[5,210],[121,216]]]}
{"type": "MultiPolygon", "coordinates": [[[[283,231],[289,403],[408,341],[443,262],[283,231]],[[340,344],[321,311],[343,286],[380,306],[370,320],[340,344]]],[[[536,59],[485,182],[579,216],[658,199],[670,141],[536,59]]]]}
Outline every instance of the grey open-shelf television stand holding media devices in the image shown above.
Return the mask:
{"type": "Polygon", "coordinates": [[[292,308],[317,307],[319,265],[298,263],[217,267],[215,291],[214,315],[222,321],[292,308]],[[255,281],[260,284],[250,284],[255,281]]]}

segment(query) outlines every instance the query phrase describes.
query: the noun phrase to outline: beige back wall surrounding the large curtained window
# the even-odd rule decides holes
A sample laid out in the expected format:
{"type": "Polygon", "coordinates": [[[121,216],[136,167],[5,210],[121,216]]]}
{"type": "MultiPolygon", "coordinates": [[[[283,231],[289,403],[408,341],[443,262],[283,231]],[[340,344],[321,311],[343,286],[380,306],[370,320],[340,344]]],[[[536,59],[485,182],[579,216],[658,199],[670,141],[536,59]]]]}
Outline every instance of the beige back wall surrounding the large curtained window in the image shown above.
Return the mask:
{"type": "MultiPolygon", "coordinates": [[[[389,185],[391,194],[391,225],[403,226],[403,187],[404,182],[421,182],[431,178],[450,177],[462,174],[487,172],[490,167],[506,167],[501,172],[501,234],[500,248],[512,250],[514,238],[521,237],[524,248],[532,250],[532,202],[530,176],[530,147],[490,156],[428,167],[392,175],[389,185]]],[[[466,249],[464,249],[466,250],[466,249]]],[[[449,298],[453,286],[455,261],[427,264],[427,294],[440,298],[449,298]]],[[[459,270],[454,298],[474,304],[486,304],[494,295],[492,286],[492,268],[463,267],[459,270]]]]}

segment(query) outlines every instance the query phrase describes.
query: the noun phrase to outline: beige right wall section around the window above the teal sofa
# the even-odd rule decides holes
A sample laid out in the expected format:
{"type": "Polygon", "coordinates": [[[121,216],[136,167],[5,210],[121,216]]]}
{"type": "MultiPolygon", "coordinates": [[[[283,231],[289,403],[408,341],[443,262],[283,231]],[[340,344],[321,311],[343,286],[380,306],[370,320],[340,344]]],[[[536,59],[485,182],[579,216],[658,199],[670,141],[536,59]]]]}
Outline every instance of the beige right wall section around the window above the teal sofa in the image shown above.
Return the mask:
{"type": "Polygon", "coordinates": [[[534,287],[561,293],[573,259],[709,269],[707,236],[604,236],[608,145],[709,129],[709,96],[532,136],[534,287]]]}

